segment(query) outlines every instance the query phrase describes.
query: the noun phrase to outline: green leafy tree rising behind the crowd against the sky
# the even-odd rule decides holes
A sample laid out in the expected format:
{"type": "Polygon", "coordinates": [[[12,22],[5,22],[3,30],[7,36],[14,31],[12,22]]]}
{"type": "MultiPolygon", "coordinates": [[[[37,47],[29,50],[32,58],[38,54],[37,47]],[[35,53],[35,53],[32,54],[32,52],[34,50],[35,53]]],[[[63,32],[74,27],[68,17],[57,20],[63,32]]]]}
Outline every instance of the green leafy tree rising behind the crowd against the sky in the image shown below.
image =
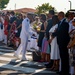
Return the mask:
{"type": "Polygon", "coordinates": [[[52,10],[52,9],[55,10],[55,8],[49,5],[49,3],[44,3],[41,6],[38,5],[38,7],[36,8],[37,14],[47,13],[49,10],[52,10]]]}

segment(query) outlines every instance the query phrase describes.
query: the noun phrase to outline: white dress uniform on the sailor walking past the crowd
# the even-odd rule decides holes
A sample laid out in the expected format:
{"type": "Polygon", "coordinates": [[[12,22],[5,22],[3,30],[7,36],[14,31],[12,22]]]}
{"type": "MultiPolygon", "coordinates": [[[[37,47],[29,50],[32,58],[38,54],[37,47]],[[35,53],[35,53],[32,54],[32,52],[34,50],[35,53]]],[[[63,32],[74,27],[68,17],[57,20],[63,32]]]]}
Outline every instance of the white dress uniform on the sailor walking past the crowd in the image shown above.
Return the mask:
{"type": "Polygon", "coordinates": [[[21,44],[19,45],[17,51],[15,51],[15,56],[19,56],[22,52],[22,60],[26,60],[25,54],[27,49],[27,43],[29,35],[34,34],[30,29],[30,20],[25,18],[22,22],[22,30],[20,33],[21,44]]]}

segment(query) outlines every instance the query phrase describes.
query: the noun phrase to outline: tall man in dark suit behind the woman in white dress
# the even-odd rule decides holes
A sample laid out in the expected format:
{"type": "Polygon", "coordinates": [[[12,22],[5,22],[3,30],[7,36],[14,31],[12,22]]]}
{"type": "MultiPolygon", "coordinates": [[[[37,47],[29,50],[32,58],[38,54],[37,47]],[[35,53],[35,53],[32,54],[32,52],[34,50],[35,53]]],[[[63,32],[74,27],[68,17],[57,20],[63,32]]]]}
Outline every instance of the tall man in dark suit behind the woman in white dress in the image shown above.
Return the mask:
{"type": "MultiPolygon", "coordinates": [[[[46,27],[46,37],[47,37],[47,40],[49,41],[49,30],[51,29],[51,27],[53,26],[53,23],[52,23],[52,17],[54,16],[54,10],[50,10],[49,11],[49,14],[48,14],[48,17],[49,17],[49,19],[48,19],[48,25],[47,25],[47,27],[46,27]]],[[[50,46],[51,47],[51,46],[50,46]]],[[[50,62],[48,63],[48,64],[45,64],[45,66],[46,66],[46,68],[50,68],[50,67],[52,67],[52,65],[53,65],[53,60],[50,60],[50,62]]]]}

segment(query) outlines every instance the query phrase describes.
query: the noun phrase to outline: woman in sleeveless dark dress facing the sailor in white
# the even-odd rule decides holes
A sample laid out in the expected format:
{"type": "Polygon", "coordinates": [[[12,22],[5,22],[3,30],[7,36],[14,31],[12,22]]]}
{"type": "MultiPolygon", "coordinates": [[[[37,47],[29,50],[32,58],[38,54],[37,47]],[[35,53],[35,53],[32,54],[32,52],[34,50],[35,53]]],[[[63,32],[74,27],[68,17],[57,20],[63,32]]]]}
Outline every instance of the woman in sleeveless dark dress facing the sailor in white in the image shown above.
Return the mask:
{"type": "Polygon", "coordinates": [[[39,32],[39,38],[38,38],[38,47],[41,51],[41,60],[40,61],[45,61],[45,53],[42,53],[42,42],[43,42],[43,38],[44,38],[44,35],[45,35],[45,30],[46,30],[46,15],[45,14],[41,14],[40,15],[40,21],[42,22],[42,25],[41,25],[41,29],[40,29],[40,32],[39,32]]]}

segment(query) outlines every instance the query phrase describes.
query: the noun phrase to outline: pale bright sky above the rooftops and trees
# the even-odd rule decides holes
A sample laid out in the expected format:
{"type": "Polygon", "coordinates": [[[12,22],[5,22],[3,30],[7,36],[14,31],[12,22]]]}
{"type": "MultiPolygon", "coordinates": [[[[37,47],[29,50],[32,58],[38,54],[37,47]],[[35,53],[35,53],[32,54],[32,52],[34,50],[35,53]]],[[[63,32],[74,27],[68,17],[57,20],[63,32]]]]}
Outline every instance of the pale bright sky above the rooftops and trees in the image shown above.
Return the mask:
{"type": "MultiPolygon", "coordinates": [[[[75,0],[70,0],[72,9],[75,9],[75,0]]],[[[69,0],[10,0],[7,8],[10,10],[19,9],[19,8],[36,8],[38,5],[43,3],[49,3],[55,9],[59,11],[66,12],[70,9],[70,2],[69,0]]]]}

